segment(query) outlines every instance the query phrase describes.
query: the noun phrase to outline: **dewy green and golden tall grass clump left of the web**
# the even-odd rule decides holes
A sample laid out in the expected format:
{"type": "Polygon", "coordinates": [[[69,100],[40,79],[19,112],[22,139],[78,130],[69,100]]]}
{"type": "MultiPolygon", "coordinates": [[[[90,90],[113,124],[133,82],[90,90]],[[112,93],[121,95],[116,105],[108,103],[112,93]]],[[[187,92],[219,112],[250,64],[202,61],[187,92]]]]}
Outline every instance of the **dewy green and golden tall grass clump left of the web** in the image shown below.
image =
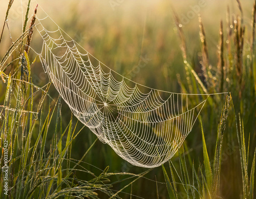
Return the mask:
{"type": "MultiPolygon", "coordinates": [[[[8,5],[6,19],[12,2],[8,5]]],[[[72,143],[83,127],[77,129],[77,122],[73,124],[71,115],[63,129],[61,98],[55,101],[48,94],[51,82],[43,87],[32,82],[31,67],[36,59],[31,63],[28,55],[36,9],[26,30],[29,9],[30,1],[23,34],[1,60],[0,73],[5,87],[0,109],[1,198],[99,198],[99,193],[120,198],[118,191],[112,190],[112,184],[118,181],[110,182],[109,178],[122,173],[110,173],[106,167],[94,174],[81,166],[96,140],[80,160],[71,158],[72,143]],[[53,132],[50,126],[54,126],[53,132]],[[81,173],[87,176],[86,180],[79,178],[81,173]]],[[[134,175],[134,181],[145,173],[134,175]]],[[[133,177],[132,173],[129,175],[133,177]]]]}

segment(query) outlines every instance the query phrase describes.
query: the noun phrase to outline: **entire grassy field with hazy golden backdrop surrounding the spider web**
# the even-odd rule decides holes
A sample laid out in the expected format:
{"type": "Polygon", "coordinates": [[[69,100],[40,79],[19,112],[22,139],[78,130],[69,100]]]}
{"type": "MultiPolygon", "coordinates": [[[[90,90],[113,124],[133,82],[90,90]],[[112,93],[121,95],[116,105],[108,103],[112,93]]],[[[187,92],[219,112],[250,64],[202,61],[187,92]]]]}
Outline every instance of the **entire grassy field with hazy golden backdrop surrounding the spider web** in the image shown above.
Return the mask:
{"type": "Polygon", "coordinates": [[[14,0],[1,2],[0,11],[1,198],[255,197],[254,1],[14,0]],[[33,51],[42,47],[38,33],[31,41],[26,34],[37,4],[38,17],[43,8],[133,81],[170,92],[227,93],[208,98],[162,167],[133,166],[72,116],[44,73],[33,51]],[[27,53],[26,42],[33,48],[27,53]]]}

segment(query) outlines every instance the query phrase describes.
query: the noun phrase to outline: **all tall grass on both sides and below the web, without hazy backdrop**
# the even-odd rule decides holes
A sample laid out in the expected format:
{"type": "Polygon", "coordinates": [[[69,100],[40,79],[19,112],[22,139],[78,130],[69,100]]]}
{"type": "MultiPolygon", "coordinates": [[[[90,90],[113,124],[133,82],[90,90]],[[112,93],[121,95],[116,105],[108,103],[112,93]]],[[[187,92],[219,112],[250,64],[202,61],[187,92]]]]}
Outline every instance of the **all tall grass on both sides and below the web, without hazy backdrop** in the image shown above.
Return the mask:
{"type": "MultiPolygon", "coordinates": [[[[8,28],[6,23],[12,4],[13,1],[9,1],[3,30],[8,28]]],[[[1,197],[253,198],[256,5],[254,3],[252,8],[251,27],[244,24],[239,1],[237,6],[240,14],[231,14],[228,8],[226,21],[221,21],[219,32],[216,29],[218,49],[208,48],[204,19],[199,16],[200,73],[194,57],[189,56],[186,29],[180,26],[179,13],[173,12],[186,76],[183,81],[182,74],[177,75],[181,91],[229,94],[208,98],[208,105],[201,113],[203,117],[193,130],[198,134],[188,137],[173,159],[162,168],[139,170],[140,174],[134,174],[137,171],[134,168],[112,172],[108,165],[101,169],[93,166],[100,162],[100,157],[104,157],[107,163],[114,162],[112,165],[116,167],[120,163],[117,158],[112,161],[109,156],[115,157],[115,154],[112,150],[108,152],[105,146],[97,151],[102,156],[93,157],[92,148],[97,143],[94,137],[84,141],[90,144],[81,156],[77,155],[79,159],[73,158],[77,157],[74,153],[79,153],[84,147],[77,143],[86,127],[73,118],[71,112],[67,114],[66,109],[63,112],[65,103],[60,97],[52,97],[50,81],[41,87],[33,82],[32,69],[37,64],[37,57],[31,56],[29,46],[31,39],[35,38],[32,34],[33,20],[36,19],[31,18],[28,26],[28,13],[32,9],[28,1],[23,33],[7,48],[0,61],[3,94],[0,96],[1,197]],[[212,51],[217,52],[219,61],[216,65],[210,63],[212,51]],[[220,104],[224,102],[221,111],[220,104]],[[5,151],[8,151],[7,162],[5,151]],[[5,173],[8,173],[7,195],[3,186],[5,173]],[[151,181],[154,181],[153,185],[147,185],[151,181]],[[146,189],[141,188],[143,185],[146,189]]],[[[145,27],[147,29],[150,28],[145,27]]],[[[0,45],[2,35],[3,31],[0,45]]]]}

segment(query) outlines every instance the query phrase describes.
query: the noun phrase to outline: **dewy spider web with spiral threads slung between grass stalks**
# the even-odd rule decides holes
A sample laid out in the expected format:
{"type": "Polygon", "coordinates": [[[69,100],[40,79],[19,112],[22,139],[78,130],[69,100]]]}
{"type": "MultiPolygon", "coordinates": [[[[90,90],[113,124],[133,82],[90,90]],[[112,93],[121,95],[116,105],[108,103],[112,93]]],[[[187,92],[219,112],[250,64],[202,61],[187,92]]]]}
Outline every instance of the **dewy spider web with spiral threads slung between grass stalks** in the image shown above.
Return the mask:
{"type": "Polygon", "coordinates": [[[172,158],[209,95],[164,92],[135,83],[81,48],[47,16],[36,25],[40,61],[73,114],[124,160],[157,167],[172,158]],[[47,30],[44,26],[52,23],[47,30]],[[198,104],[189,100],[197,97],[198,104]]]}

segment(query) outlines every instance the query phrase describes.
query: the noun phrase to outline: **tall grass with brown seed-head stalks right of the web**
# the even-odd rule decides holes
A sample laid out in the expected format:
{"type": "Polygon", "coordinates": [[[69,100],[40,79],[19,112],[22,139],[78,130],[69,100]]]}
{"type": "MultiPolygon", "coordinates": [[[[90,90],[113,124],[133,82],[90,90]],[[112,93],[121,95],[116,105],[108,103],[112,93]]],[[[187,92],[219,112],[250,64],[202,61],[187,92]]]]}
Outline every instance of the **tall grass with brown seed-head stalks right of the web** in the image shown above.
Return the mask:
{"type": "MultiPolygon", "coordinates": [[[[240,172],[236,173],[241,176],[239,178],[239,195],[237,198],[253,198],[255,190],[254,186],[254,169],[255,169],[255,81],[254,73],[255,69],[255,54],[254,54],[254,34],[255,34],[255,4],[252,9],[252,24],[251,24],[251,41],[245,36],[245,25],[243,24],[243,10],[239,0],[237,0],[238,7],[241,15],[231,15],[228,9],[227,13],[227,35],[224,38],[223,22],[220,23],[220,40],[218,46],[219,64],[213,67],[209,63],[208,59],[208,48],[207,48],[207,37],[205,35],[202,18],[199,15],[199,36],[201,40],[201,67],[202,75],[199,76],[195,73],[187,59],[186,42],[182,26],[178,15],[174,11],[176,20],[176,26],[178,35],[181,38],[181,50],[183,52],[183,59],[185,63],[185,69],[188,71],[187,82],[181,82],[181,87],[184,92],[201,92],[202,94],[208,92],[230,92],[226,97],[225,105],[222,109],[221,119],[216,132],[216,145],[214,156],[209,157],[207,151],[207,142],[205,142],[203,124],[201,121],[202,130],[202,149],[203,149],[203,163],[199,162],[199,166],[195,166],[195,162],[189,162],[186,164],[184,149],[179,152],[180,157],[180,171],[176,169],[169,161],[169,176],[172,178],[170,183],[168,174],[163,167],[163,173],[165,181],[167,183],[167,189],[170,198],[221,198],[225,197],[225,191],[221,189],[222,175],[221,172],[222,158],[227,154],[223,153],[223,145],[225,145],[224,138],[228,136],[232,139],[236,138],[234,135],[237,134],[236,141],[232,140],[233,143],[237,143],[239,148],[240,159],[234,162],[235,164],[241,164],[240,172]],[[248,40],[246,40],[248,39],[248,40]],[[226,42],[225,42],[226,41],[226,42]],[[245,49],[245,45],[250,47],[250,50],[245,49]],[[207,92],[206,92],[207,90],[207,92]],[[232,97],[231,97],[232,96],[232,97]],[[230,107],[230,104],[232,106],[230,107]],[[232,108],[232,115],[229,114],[229,125],[228,133],[225,132],[225,126],[227,122],[228,112],[232,108]],[[241,115],[245,119],[241,119],[241,115]],[[249,117],[248,117],[249,115],[249,117]],[[247,135],[244,131],[244,121],[246,120],[247,135]],[[236,126],[236,128],[234,128],[236,126]],[[249,132],[252,132],[253,139],[250,139],[249,132]],[[250,147],[250,143],[252,147],[250,147]],[[189,167],[189,168],[188,168],[189,167]],[[175,172],[174,172],[175,171],[175,172]],[[192,180],[192,181],[191,181],[192,180]]],[[[210,100],[211,106],[211,117],[215,117],[216,108],[218,107],[219,99],[210,100]]],[[[195,102],[196,103],[196,102],[195,102]]],[[[234,146],[233,146],[234,147],[234,146]]],[[[225,151],[226,152],[226,151],[225,151]]],[[[231,155],[231,154],[230,154],[231,155]]],[[[231,159],[231,158],[229,158],[231,159]]],[[[232,182],[227,182],[232,183],[232,182]]],[[[235,191],[235,190],[230,190],[235,191]]],[[[233,195],[233,194],[231,194],[233,195]]]]}

